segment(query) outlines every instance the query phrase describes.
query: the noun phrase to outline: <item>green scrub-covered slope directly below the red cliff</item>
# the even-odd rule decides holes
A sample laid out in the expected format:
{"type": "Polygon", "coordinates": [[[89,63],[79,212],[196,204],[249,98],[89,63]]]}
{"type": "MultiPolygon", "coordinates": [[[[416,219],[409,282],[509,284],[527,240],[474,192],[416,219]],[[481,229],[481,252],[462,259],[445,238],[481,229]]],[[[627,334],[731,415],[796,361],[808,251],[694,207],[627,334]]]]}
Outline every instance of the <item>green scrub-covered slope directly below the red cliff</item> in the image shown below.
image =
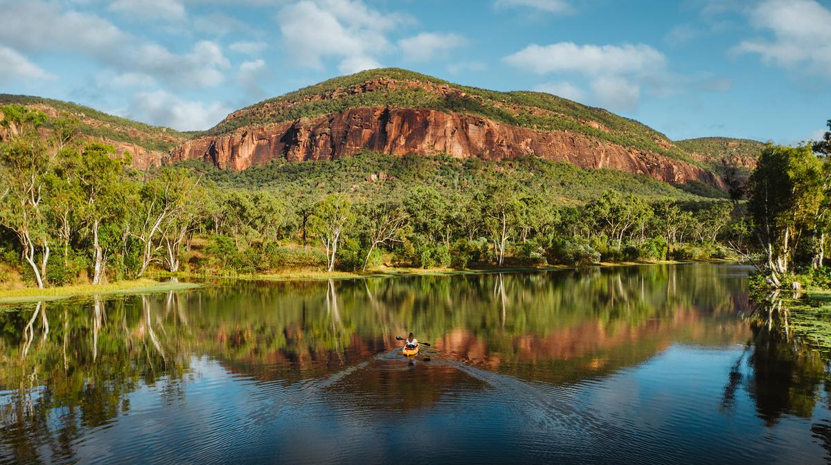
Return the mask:
{"type": "Polygon", "coordinates": [[[342,159],[305,163],[278,159],[239,172],[218,169],[200,160],[174,166],[187,168],[194,176],[209,179],[222,188],[268,188],[287,193],[349,192],[355,198],[406,191],[416,185],[445,193],[470,192],[501,181],[521,186],[524,192],[544,196],[559,205],[586,203],[608,189],[648,201],[706,200],[647,175],[614,169],[580,169],[573,164],[534,157],[493,161],[364,152],[342,159]]]}

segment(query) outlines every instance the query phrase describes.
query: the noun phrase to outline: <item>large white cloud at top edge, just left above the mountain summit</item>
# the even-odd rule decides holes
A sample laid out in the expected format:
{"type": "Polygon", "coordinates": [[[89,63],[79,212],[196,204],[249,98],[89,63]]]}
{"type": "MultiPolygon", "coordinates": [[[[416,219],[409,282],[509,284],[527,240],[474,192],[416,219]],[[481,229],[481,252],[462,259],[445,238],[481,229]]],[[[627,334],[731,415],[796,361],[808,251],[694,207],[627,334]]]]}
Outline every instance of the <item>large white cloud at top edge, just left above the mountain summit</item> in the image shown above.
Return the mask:
{"type": "Polygon", "coordinates": [[[402,21],[361,0],[304,0],[277,17],[284,47],[299,66],[321,69],[324,60],[335,59],[342,72],[380,66],[378,60],[392,48],[386,32],[402,21]]]}

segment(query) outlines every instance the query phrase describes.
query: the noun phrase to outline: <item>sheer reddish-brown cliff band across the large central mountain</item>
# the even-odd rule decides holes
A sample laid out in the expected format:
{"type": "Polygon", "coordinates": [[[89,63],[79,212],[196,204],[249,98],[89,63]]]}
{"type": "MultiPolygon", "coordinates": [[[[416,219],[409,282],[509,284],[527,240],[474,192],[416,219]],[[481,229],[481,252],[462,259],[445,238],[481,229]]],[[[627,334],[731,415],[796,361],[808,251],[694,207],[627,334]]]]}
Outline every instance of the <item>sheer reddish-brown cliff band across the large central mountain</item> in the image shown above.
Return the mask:
{"type": "Polygon", "coordinates": [[[242,170],[269,160],[337,159],[361,150],[386,154],[450,154],[511,159],[535,155],[587,169],[618,169],[672,184],[721,180],[695,164],[630,149],[568,131],[540,132],[476,115],[436,110],[353,108],[310,120],[249,126],[194,139],[171,150],[170,161],[202,159],[242,170]]]}

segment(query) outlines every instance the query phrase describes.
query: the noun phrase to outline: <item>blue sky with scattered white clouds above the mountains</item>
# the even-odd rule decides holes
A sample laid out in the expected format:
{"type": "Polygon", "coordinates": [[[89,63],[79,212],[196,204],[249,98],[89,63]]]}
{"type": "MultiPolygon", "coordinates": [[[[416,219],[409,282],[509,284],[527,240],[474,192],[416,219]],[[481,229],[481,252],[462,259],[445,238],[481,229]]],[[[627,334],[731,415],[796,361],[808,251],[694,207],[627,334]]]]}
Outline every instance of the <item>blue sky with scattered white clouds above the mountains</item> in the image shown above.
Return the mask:
{"type": "Polygon", "coordinates": [[[601,106],[671,139],[831,119],[831,0],[0,0],[0,93],[205,130],[396,66],[601,106]]]}

